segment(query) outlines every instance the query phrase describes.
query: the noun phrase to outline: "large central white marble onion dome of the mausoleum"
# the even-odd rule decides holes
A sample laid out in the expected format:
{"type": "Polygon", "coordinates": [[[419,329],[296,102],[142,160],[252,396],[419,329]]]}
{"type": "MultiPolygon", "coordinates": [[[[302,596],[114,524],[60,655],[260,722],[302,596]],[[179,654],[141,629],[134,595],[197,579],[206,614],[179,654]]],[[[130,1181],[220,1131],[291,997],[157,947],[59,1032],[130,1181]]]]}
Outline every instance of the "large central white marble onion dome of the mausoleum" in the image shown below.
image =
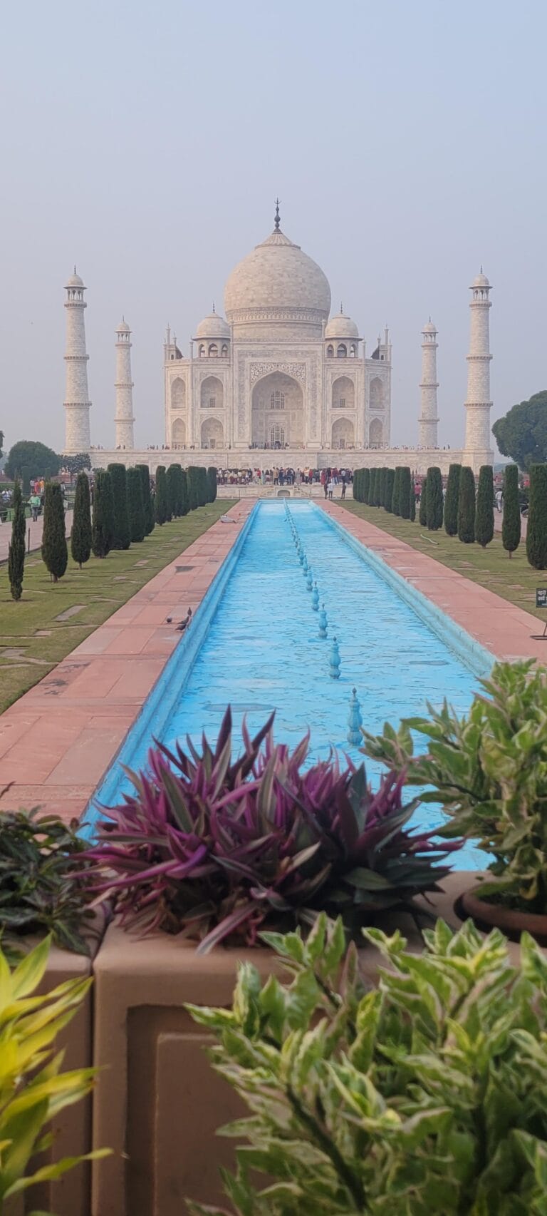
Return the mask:
{"type": "Polygon", "coordinates": [[[276,229],[232,270],[224,304],[232,323],[317,323],[328,319],[331,288],[321,268],[276,229]]]}

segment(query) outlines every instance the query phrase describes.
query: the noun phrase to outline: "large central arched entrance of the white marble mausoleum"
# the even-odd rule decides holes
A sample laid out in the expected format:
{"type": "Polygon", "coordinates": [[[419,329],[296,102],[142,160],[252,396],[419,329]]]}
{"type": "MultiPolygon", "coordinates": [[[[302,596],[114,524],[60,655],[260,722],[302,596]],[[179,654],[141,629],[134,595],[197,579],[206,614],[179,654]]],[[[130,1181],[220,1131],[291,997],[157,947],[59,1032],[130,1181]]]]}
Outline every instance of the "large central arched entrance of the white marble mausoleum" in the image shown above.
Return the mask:
{"type": "Polygon", "coordinates": [[[304,394],[292,376],[270,372],[254,385],[250,440],[256,447],[304,445],[304,394]]]}

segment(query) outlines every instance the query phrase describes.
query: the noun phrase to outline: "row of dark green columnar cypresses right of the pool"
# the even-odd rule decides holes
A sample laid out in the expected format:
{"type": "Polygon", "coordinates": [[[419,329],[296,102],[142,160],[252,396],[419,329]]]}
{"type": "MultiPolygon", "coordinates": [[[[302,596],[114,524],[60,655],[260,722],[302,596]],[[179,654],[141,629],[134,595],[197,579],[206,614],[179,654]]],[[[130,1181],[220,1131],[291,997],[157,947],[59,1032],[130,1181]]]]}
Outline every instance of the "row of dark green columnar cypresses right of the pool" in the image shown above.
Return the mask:
{"type": "MultiPolygon", "coordinates": [[[[494,537],[494,472],[483,465],[478,484],[473,469],[451,465],[442,494],[441,471],[428,468],[421,484],[419,516],[422,528],[458,536],[464,545],[476,542],[483,548],[494,537]]],[[[370,507],[383,507],[402,519],[416,518],[416,489],[408,466],[399,468],[357,468],[354,473],[354,499],[370,507]]],[[[509,557],[520,544],[519,471],[507,465],[503,475],[502,545],[509,557]]],[[[526,557],[535,569],[547,569],[547,463],[530,468],[530,506],[526,531],[526,557]]]]}

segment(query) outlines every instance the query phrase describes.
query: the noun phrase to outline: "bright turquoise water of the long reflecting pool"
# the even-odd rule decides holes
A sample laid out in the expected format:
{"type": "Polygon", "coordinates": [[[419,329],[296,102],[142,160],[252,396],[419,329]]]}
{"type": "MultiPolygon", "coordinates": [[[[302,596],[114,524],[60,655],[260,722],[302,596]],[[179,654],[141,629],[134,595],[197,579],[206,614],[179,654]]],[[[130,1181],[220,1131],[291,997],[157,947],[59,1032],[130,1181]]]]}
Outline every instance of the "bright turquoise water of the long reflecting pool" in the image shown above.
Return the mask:
{"type": "MultiPolygon", "coordinates": [[[[181,643],[98,790],[103,804],[126,788],[119,760],[142,767],[154,737],[171,744],[190,734],[198,742],[204,730],[214,739],[229,703],[237,736],[244,714],[254,731],[275,710],[277,739],[294,745],[309,727],[311,758],[334,747],[354,760],[359,750],[346,741],[354,687],[363,724],[374,732],[424,713],[427,700],[440,706],[446,697],[457,711],[468,708],[478,687],[472,648],[466,663],[318,507],[293,502],[288,510],[325,603],[327,640],[318,636],[284,502],[260,502],[193,664],[181,643]],[[329,676],[334,635],[339,680],[329,676]]],[[[203,604],[199,613],[207,610],[203,604]]],[[[367,767],[376,784],[379,770],[367,767]]],[[[422,823],[439,820],[435,807],[418,812],[422,823]]],[[[480,863],[484,855],[473,849],[456,858],[458,868],[480,863]]]]}

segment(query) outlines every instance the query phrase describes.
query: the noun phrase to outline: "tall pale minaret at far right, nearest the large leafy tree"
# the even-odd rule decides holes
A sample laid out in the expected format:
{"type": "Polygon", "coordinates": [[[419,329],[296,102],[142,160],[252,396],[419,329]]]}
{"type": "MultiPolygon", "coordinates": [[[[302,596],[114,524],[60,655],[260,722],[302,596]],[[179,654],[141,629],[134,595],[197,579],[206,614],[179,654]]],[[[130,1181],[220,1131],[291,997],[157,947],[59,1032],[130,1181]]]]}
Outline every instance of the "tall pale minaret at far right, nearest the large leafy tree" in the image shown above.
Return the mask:
{"type": "Polygon", "coordinates": [[[470,340],[467,356],[467,418],[464,463],[478,472],[494,460],[490,439],[490,283],[483,274],[473,281],[470,308],[470,340]]]}

